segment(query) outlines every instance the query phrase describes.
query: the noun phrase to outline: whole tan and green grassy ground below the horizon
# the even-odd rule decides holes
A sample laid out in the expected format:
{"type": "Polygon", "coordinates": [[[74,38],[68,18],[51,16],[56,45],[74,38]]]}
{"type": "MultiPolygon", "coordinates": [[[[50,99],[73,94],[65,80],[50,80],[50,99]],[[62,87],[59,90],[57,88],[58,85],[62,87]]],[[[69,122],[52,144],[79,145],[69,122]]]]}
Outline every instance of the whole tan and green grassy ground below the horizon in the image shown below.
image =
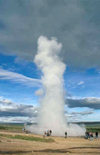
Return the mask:
{"type": "MultiPolygon", "coordinates": [[[[23,132],[22,124],[0,124],[0,155],[100,155],[100,139],[45,137],[23,132]]],[[[86,125],[100,131],[100,125],[86,125]]]]}

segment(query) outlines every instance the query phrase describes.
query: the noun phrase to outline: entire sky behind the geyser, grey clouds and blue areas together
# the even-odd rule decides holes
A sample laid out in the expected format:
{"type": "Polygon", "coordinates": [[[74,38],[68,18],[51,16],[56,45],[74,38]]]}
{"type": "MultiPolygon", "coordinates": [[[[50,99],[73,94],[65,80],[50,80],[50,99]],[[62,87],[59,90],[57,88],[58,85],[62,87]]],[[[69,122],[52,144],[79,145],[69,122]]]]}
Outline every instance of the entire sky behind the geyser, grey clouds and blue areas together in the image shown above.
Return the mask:
{"type": "Polygon", "coordinates": [[[0,0],[0,121],[36,121],[42,73],[33,60],[41,35],[63,46],[66,117],[100,121],[99,7],[98,0],[0,0]]]}

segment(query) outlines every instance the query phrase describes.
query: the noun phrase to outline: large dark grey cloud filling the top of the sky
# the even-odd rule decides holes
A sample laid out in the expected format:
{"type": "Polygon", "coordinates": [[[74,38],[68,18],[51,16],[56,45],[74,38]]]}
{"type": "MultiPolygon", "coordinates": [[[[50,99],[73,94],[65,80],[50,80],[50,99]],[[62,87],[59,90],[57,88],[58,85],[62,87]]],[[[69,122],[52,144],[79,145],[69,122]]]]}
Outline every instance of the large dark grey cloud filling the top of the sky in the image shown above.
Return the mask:
{"type": "Polygon", "coordinates": [[[0,52],[32,61],[40,35],[63,44],[76,68],[100,67],[100,1],[0,0],[0,52]]]}

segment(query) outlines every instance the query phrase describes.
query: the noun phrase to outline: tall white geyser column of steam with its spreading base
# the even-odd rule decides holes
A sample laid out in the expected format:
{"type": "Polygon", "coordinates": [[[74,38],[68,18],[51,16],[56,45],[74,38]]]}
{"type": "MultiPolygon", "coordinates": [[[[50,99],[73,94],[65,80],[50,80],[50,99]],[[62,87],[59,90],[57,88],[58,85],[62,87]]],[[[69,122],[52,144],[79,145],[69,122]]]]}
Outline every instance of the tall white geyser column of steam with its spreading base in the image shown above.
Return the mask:
{"type": "Polygon", "coordinates": [[[64,136],[65,131],[69,136],[80,136],[84,135],[85,128],[68,125],[64,116],[63,73],[66,66],[59,56],[61,48],[62,44],[55,38],[48,40],[40,36],[38,39],[38,51],[34,62],[43,73],[43,95],[40,100],[38,125],[27,129],[39,134],[49,129],[57,136],[64,136]]]}

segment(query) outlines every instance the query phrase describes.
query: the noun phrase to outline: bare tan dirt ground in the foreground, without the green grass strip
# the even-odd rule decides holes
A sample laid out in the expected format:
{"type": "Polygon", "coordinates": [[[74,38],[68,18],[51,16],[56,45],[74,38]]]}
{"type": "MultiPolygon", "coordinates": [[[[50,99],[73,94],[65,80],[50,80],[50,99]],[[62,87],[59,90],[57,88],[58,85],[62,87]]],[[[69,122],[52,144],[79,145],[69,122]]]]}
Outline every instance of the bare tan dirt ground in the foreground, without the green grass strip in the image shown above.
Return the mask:
{"type": "MultiPolygon", "coordinates": [[[[8,134],[8,132],[1,133],[8,134]]],[[[16,133],[9,132],[9,134],[16,133]]],[[[31,136],[31,134],[28,135],[31,136]]],[[[0,137],[0,155],[100,155],[100,139],[90,141],[84,138],[52,138],[55,142],[46,143],[0,137]]]]}

